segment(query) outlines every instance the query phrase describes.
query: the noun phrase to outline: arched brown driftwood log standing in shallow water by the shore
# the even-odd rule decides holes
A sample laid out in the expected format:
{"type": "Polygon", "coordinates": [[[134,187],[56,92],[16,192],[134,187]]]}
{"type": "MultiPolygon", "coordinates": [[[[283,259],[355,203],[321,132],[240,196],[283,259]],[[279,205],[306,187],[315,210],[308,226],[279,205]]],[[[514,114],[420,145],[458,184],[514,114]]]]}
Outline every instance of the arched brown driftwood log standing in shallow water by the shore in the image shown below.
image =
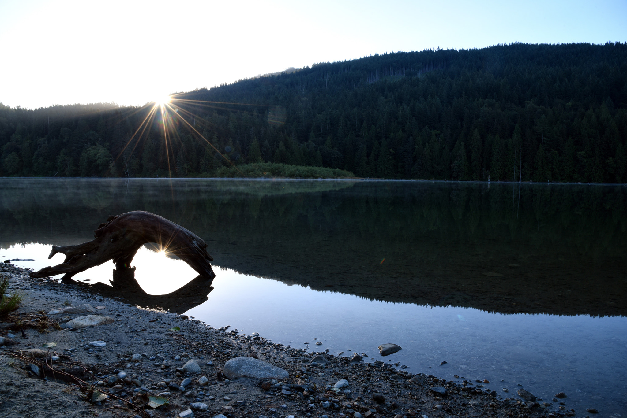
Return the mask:
{"type": "Polygon", "coordinates": [[[30,274],[43,278],[64,274],[69,279],[76,273],[113,260],[116,268],[129,268],[137,250],[144,244],[157,243],[160,248],[185,261],[201,276],[210,280],[216,276],[209,261],[207,244],[196,234],[166,218],[150,212],[126,212],[109,216],[107,222],[94,231],[95,239],[78,245],[53,246],[50,256],[65,254],[63,264],[48,266],[30,274]]]}

